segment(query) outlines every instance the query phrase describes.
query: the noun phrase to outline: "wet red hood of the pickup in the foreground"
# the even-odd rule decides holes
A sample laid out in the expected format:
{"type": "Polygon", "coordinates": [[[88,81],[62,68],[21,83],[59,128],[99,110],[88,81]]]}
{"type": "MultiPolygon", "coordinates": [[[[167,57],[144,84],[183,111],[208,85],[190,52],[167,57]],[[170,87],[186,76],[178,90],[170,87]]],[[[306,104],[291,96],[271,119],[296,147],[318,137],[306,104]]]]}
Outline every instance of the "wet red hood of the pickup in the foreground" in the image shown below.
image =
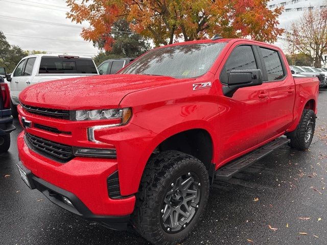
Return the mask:
{"type": "Polygon", "coordinates": [[[127,74],[70,78],[32,85],[20,93],[19,101],[65,110],[109,109],[131,92],[187,80],[194,79],[127,74]]]}

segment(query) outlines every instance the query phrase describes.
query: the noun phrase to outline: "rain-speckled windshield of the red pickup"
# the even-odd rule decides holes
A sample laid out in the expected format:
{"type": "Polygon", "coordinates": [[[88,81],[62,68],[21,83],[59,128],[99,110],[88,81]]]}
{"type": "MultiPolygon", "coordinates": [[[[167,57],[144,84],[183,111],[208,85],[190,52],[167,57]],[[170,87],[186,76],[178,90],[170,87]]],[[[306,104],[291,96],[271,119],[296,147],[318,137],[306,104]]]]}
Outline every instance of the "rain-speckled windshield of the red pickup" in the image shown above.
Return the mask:
{"type": "Polygon", "coordinates": [[[156,48],[135,60],[120,74],[198,77],[211,68],[225,45],[225,42],[211,42],[156,48]]]}

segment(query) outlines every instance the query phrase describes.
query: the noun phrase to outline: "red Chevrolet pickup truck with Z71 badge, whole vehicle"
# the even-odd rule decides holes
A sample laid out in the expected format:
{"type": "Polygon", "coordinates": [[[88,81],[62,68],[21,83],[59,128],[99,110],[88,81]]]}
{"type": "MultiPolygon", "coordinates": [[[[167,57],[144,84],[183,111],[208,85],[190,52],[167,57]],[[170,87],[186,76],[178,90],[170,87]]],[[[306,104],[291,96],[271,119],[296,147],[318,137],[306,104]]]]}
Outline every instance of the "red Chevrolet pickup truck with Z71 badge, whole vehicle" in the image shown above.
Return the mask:
{"type": "Polygon", "coordinates": [[[72,213],[175,244],[198,222],[214,179],[287,143],[309,148],[318,88],[317,78],[293,78],[266,43],[158,47],[115,75],[21,92],[18,170],[72,213]]]}

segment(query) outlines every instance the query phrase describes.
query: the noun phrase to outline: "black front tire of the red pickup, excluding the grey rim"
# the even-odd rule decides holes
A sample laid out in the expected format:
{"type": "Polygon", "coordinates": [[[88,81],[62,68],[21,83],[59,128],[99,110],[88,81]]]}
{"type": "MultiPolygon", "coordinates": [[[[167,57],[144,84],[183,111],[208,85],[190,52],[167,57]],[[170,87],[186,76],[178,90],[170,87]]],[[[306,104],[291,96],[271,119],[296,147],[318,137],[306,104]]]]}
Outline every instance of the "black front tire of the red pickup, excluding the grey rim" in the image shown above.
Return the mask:
{"type": "Polygon", "coordinates": [[[165,151],[152,157],[145,170],[136,194],[135,209],[131,224],[145,239],[157,245],[176,244],[187,237],[198,223],[209,194],[209,177],[203,163],[188,154],[178,151],[165,151]],[[167,191],[178,176],[192,171],[199,178],[200,204],[185,229],[171,234],[160,223],[160,206],[166,198],[167,191]]]}

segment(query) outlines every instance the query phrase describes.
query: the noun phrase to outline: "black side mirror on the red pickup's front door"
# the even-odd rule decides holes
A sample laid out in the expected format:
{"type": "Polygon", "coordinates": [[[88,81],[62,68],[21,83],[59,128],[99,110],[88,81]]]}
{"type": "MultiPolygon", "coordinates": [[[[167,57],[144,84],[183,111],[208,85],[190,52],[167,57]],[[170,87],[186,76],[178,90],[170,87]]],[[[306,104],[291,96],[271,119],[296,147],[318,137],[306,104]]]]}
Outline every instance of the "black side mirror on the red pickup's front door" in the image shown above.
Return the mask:
{"type": "Polygon", "coordinates": [[[262,72],[260,69],[231,70],[228,75],[227,85],[223,86],[223,93],[231,97],[239,88],[261,84],[262,72]]]}

